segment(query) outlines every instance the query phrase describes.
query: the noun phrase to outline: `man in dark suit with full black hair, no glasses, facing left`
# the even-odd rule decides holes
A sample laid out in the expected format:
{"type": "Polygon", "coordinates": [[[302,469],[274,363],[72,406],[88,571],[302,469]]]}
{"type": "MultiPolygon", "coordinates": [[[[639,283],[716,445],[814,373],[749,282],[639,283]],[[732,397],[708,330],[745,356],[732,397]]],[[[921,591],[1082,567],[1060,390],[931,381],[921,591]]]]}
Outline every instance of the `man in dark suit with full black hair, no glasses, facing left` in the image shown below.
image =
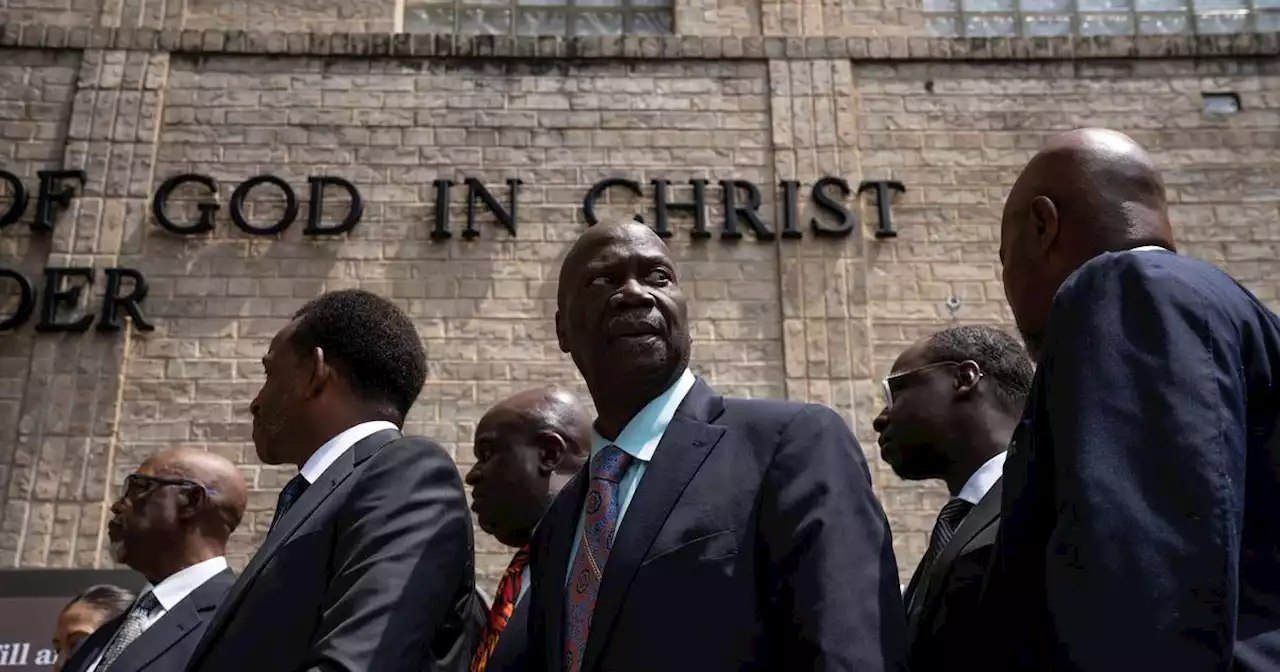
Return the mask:
{"type": "Polygon", "coordinates": [[[413,324],[369,292],[330,292],[262,366],[253,445],[300,472],[191,669],[465,668],[475,559],[462,479],[444,448],[401,434],[426,376],[413,324]]]}

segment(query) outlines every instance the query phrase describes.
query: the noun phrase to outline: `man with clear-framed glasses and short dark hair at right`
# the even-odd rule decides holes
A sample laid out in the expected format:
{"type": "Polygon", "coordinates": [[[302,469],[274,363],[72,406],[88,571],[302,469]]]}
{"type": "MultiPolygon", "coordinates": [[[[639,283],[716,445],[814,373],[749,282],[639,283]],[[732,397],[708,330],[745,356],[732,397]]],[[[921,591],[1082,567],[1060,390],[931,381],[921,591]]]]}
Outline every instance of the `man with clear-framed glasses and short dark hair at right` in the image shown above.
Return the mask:
{"type": "Polygon", "coordinates": [[[882,383],[881,457],[904,479],[941,479],[951,494],[904,596],[914,672],[954,669],[991,645],[978,595],[1000,529],[1005,449],[1033,375],[1011,335],[952,326],[905,349],[882,383]]]}

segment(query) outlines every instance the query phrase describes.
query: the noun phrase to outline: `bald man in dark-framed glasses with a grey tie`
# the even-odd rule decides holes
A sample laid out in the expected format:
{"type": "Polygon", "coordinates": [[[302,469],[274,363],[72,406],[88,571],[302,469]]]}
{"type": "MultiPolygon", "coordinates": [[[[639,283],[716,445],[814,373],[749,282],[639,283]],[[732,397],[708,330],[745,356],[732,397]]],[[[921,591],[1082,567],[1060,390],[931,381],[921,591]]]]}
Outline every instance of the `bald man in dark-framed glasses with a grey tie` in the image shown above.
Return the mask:
{"type": "Polygon", "coordinates": [[[227,540],[244,517],[244,477],[204,451],[164,451],[111,504],[111,557],[147,579],[131,608],[84,640],[64,672],[180,672],[236,582],[227,540]]]}

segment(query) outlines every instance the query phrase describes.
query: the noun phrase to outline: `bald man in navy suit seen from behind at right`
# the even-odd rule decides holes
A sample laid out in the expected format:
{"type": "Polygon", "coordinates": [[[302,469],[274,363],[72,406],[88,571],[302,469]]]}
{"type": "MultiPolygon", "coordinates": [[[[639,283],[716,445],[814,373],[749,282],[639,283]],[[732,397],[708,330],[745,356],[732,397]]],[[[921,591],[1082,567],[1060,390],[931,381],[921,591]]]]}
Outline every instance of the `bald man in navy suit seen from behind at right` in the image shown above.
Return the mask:
{"type": "Polygon", "coordinates": [[[1175,252],[1129,137],[1014,184],[1005,293],[1039,365],[983,598],[995,669],[1280,668],[1280,323],[1175,252]]]}

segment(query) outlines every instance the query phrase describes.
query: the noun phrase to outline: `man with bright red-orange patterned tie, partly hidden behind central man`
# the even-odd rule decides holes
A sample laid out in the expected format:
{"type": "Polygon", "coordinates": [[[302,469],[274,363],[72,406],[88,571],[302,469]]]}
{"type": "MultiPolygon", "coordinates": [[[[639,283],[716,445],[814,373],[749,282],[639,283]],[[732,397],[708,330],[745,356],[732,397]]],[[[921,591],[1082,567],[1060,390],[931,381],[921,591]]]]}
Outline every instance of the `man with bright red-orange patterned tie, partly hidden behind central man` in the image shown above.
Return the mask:
{"type": "Polygon", "coordinates": [[[480,632],[471,672],[498,671],[527,648],[529,540],[556,493],[591,449],[591,419],[577,397],[557,388],[521,392],[489,410],[475,433],[476,463],[467,472],[480,529],[517,549],[493,605],[476,598],[480,632]]]}

